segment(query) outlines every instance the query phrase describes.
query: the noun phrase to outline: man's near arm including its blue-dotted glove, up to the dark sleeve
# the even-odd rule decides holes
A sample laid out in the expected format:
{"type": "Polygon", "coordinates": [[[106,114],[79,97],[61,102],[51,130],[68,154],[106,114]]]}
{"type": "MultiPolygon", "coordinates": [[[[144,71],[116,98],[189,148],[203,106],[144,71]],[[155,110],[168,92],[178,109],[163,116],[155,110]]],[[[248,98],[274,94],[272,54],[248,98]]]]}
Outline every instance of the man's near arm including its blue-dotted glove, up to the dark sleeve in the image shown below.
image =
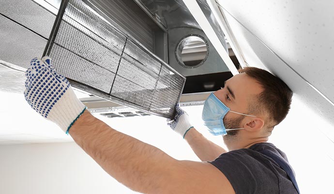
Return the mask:
{"type": "Polygon", "coordinates": [[[85,111],[49,57],[32,59],[26,77],[24,96],[31,108],[69,132],[107,173],[129,188],[158,194],[234,193],[228,179],[212,164],[177,161],[85,111]]]}

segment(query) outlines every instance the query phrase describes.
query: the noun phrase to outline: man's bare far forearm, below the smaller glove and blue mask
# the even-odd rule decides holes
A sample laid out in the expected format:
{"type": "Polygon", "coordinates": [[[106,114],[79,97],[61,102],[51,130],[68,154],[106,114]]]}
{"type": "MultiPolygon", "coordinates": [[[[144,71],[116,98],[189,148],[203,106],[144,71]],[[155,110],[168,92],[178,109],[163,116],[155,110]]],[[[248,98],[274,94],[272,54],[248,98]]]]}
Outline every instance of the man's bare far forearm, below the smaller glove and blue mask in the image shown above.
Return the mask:
{"type": "Polygon", "coordinates": [[[224,148],[217,146],[212,141],[206,139],[195,128],[190,129],[185,134],[184,139],[188,142],[201,161],[213,161],[222,153],[227,152],[224,148]]]}

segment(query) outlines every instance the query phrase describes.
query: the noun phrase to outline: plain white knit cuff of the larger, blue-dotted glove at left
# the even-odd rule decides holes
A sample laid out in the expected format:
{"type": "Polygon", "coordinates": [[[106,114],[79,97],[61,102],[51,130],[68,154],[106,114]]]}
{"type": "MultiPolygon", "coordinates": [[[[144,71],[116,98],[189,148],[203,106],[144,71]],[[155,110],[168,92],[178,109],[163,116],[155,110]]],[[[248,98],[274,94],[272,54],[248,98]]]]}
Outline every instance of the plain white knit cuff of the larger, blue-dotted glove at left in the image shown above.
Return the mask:
{"type": "Polygon", "coordinates": [[[69,87],[54,105],[47,119],[56,123],[67,134],[85,110],[86,106],[76,97],[72,87],[69,87]]]}

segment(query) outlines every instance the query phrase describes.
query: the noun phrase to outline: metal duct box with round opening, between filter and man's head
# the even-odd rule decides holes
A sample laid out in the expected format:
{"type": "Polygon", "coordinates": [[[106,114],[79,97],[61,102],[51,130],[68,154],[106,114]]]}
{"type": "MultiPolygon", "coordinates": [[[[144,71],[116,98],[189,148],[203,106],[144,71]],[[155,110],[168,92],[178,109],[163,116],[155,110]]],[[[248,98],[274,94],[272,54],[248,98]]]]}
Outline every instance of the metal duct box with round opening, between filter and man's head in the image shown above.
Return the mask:
{"type": "MultiPolygon", "coordinates": [[[[158,18],[155,22],[166,27],[168,64],[187,77],[183,94],[215,91],[232,76],[182,0],[136,0],[136,2],[152,18],[158,18]]],[[[219,41],[225,50],[228,50],[225,36],[211,16],[206,1],[198,0],[197,3],[206,13],[208,20],[214,24],[213,28],[220,38],[219,41]]]]}

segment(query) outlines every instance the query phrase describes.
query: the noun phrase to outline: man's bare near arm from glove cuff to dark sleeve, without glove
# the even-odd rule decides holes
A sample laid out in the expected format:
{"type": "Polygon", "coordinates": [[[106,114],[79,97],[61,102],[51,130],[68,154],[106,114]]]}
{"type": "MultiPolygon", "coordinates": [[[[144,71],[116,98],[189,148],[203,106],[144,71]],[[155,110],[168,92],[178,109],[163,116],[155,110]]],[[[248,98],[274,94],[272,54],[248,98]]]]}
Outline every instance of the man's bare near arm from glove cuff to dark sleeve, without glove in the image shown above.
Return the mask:
{"type": "Polygon", "coordinates": [[[228,179],[212,164],[175,160],[154,146],[110,128],[88,111],[69,133],[109,175],[135,191],[234,194],[228,179]]]}

